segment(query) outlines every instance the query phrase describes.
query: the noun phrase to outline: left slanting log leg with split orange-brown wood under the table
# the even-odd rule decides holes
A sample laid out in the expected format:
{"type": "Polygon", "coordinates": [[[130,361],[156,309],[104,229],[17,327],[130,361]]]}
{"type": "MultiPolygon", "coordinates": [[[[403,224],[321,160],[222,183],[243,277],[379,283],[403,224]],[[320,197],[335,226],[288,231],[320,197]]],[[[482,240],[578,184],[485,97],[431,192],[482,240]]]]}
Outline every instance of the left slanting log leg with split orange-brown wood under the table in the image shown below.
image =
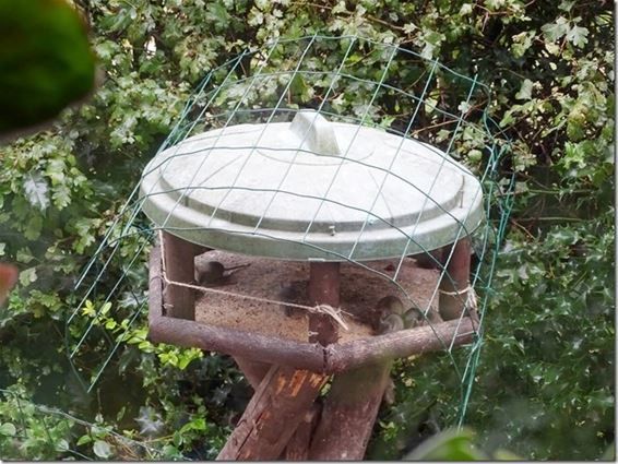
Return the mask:
{"type": "Polygon", "coordinates": [[[249,402],[217,460],[275,460],[328,377],[273,366],[249,402]]]}

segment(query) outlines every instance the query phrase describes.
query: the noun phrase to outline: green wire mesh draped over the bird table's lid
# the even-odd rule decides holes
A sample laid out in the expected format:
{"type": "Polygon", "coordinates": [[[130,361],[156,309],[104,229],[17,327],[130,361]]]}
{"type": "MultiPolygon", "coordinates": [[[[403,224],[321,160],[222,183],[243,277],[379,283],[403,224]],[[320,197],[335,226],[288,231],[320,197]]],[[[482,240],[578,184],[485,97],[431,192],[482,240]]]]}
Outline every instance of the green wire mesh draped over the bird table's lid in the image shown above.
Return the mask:
{"type": "MultiPolygon", "coordinates": [[[[135,321],[140,320],[140,314],[145,309],[146,300],[143,296],[135,296],[138,304],[132,310],[128,311],[126,316],[128,324],[124,332],[118,335],[116,341],[111,341],[108,336],[111,347],[108,355],[104,356],[103,362],[93,367],[86,366],[79,360],[82,349],[88,345],[88,343],[95,343],[96,340],[106,336],[105,331],[104,335],[95,334],[93,331],[96,326],[95,321],[106,302],[114,302],[116,306],[119,306],[118,295],[124,287],[129,286],[130,288],[130,286],[134,284],[131,282],[131,278],[128,277],[128,274],[135,266],[144,265],[146,251],[153,241],[154,233],[158,230],[169,233],[189,230],[201,230],[203,233],[221,231],[229,234],[230,236],[261,237],[280,240],[282,243],[294,243],[321,253],[326,253],[338,261],[354,264],[365,270],[367,273],[377,275],[384,279],[384,282],[391,284],[393,290],[403,295],[408,301],[420,308],[427,322],[429,322],[428,312],[430,308],[436,305],[436,299],[441,290],[436,286],[429,296],[429,300],[425,304],[424,308],[421,308],[421,305],[415,301],[415,295],[408,294],[402,285],[401,271],[411,249],[420,250],[425,253],[431,251],[427,249],[424,242],[416,236],[423,213],[428,209],[436,209],[440,214],[450,217],[453,219],[454,224],[456,224],[452,241],[456,241],[460,238],[473,234],[473,230],[468,230],[466,226],[472,210],[468,210],[460,217],[455,217],[451,211],[447,210],[437,201],[433,194],[435,190],[438,188],[439,177],[447,167],[451,170],[457,169],[466,175],[468,174],[468,170],[455,163],[454,158],[459,156],[457,151],[460,150],[459,147],[465,131],[471,131],[478,140],[484,141],[485,145],[483,150],[486,154],[483,170],[476,172],[482,188],[478,188],[472,195],[473,203],[477,201],[478,198],[483,198],[483,210],[486,217],[485,224],[474,233],[476,236],[480,237],[479,241],[475,242],[473,247],[478,257],[479,264],[473,270],[470,290],[474,292],[479,297],[478,310],[480,318],[478,325],[475,326],[475,340],[468,347],[468,355],[463,364],[457,362],[453,356],[452,344],[454,341],[442,341],[443,349],[452,364],[453,371],[460,379],[462,389],[461,424],[465,415],[470,395],[472,394],[473,379],[483,345],[485,309],[490,295],[491,277],[496,264],[498,247],[503,238],[504,227],[512,207],[512,179],[507,179],[507,183],[501,187],[499,185],[501,179],[499,178],[500,174],[498,171],[500,159],[509,150],[509,141],[503,138],[503,134],[501,134],[500,138],[497,136],[501,131],[498,124],[488,116],[489,105],[490,88],[478,82],[476,76],[468,78],[462,75],[437,60],[427,60],[420,57],[419,53],[404,49],[396,44],[381,44],[354,35],[332,37],[316,34],[295,39],[280,38],[266,44],[262,49],[245,50],[239,56],[206,73],[195,93],[185,106],[174,129],[155,155],[155,160],[158,160],[157,156],[164,151],[167,151],[165,159],[152,163],[148,169],[144,170],[142,175],[142,178],[146,176],[164,176],[175,159],[186,159],[187,163],[192,163],[194,169],[191,177],[181,188],[169,187],[167,189],[157,190],[156,192],[152,189],[150,191],[140,192],[140,186],[138,185],[112,222],[96,253],[85,265],[75,286],[75,288],[81,289],[83,294],[79,305],[74,308],[67,322],[66,328],[67,352],[71,362],[75,367],[75,372],[82,377],[84,370],[92,371],[90,380],[84,381],[85,386],[87,386],[90,391],[111,361],[114,354],[122,343],[123,335],[131,330],[135,321]],[[328,58],[330,57],[329,46],[332,45],[332,43],[342,44],[342,58],[336,62],[328,64],[328,58]],[[415,78],[412,84],[404,85],[392,75],[392,70],[395,64],[397,69],[402,66],[411,66],[408,63],[409,58],[414,58],[414,61],[417,63],[415,66],[418,71],[418,76],[415,78]],[[255,66],[255,70],[246,73],[246,75],[239,75],[239,66],[241,61],[247,60],[255,66]],[[366,67],[369,67],[367,64],[368,62],[373,67],[372,70],[375,72],[371,75],[376,76],[376,80],[364,74],[366,71],[363,70],[363,67],[358,66],[361,60],[365,60],[364,64],[366,64],[366,67]],[[252,159],[255,152],[263,150],[276,152],[277,148],[270,146],[270,141],[263,140],[272,124],[289,121],[304,106],[307,106],[300,97],[294,95],[293,86],[296,82],[302,82],[304,86],[311,90],[313,103],[309,107],[313,108],[316,111],[311,126],[316,123],[318,115],[323,115],[331,121],[353,123],[356,126],[356,132],[350,143],[341,155],[321,155],[324,159],[338,164],[334,164],[336,167],[334,168],[332,177],[323,186],[323,190],[317,194],[309,194],[307,192],[300,193],[284,188],[286,181],[289,179],[290,170],[297,157],[306,153],[311,153],[304,147],[308,132],[299,139],[298,146],[292,155],[289,165],[283,170],[281,177],[274,181],[274,187],[241,185],[239,181],[240,176],[245,172],[249,160],[252,159]],[[460,92],[457,88],[461,87],[465,90],[465,94],[461,91],[462,95],[444,96],[443,92],[445,92],[448,87],[444,82],[456,83],[456,85],[453,84],[454,92],[460,92]],[[368,91],[368,95],[364,97],[363,100],[357,102],[357,106],[360,108],[359,110],[355,110],[353,104],[349,104],[348,108],[346,108],[344,105],[337,103],[337,98],[342,95],[342,90],[346,87],[363,87],[368,91]],[[449,105],[438,99],[430,99],[429,96],[433,95],[435,92],[440,92],[444,100],[451,98],[453,103],[449,105]],[[397,102],[402,103],[400,105],[401,107],[409,107],[409,117],[407,117],[407,115],[403,117],[402,115],[392,115],[393,110],[387,108],[383,102],[387,95],[391,95],[393,98],[396,98],[397,102]],[[459,112],[453,111],[452,108],[457,106],[457,103],[460,104],[459,112]],[[474,106],[473,103],[476,103],[476,106],[474,106]],[[471,110],[473,107],[475,107],[474,111],[471,110]],[[412,108],[414,109],[412,110],[412,108]],[[427,126],[427,123],[423,126],[424,122],[419,120],[419,115],[423,109],[425,109],[426,117],[432,121],[429,126],[427,126]],[[390,127],[390,124],[387,123],[391,117],[393,120],[401,123],[400,128],[390,127]],[[219,144],[223,142],[223,138],[226,136],[226,130],[246,122],[260,122],[262,124],[259,127],[260,132],[251,145],[219,144]],[[394,155],[387,167],[378,163],[348,156],[356,136],[364,127],[381,128],[388,133],[401,138],[399,145],[394,150],[394,155]],[[443,127],[450,128],[450,135],[445,143],[442,142],[444,150],[441,151],[433,146],[437,139],[435,129],[443,127]],[[213,131],[215,129],[216,132],[213,131]],[[394,170],[397,158],[407,156],[404,143],[407,140],[414,140],[415,134],[418,135],[421,133],[425,136],[423,146],[435,154],[436,159],[439,160],[437,174],[433,179],[431,179],[429,188],[416,186],[402,172],[394,170]],[[192,141],[209,141],[209,147],[206,150],[187,150],[182,142],[190,136],[192,141]],[[219,170],[209,172],[206,179],[198,180],[198,176],[202,171],[202,168],[206,166],[206,162],[215,156],[215,151],[224,153],[231,150],[239,152],[248,151],[248,154],[245,156],[245,159],[240,162],[238,171],[229,181],[229,185],[209,186],[206,181],[216,179],[221,169],[236,163],[238,158],[229,160],[228,165],[224,165],[219,170]],[[353,164],[370,172],[376,185],[376,192],[369,202],[369,206],[359,207],[356,204],[344,203],[330,195],[332,189],[340,181],[340,174],[344,164],[353,164]],[[376,177],[373,177],[373,172],[376,172],[376,177]],[[406,227],[404,230],[404,228],[400,227],[390,216],[375,211],[380,199],[387,203],[383,191],[388,179],[396,179],[406,186],[406,188],[421,195],[423,202],[420,204],[419,214],[413,227],[406,227]],[[496,191],[499,189],[502,189],[502,194],[496,195],[496,191]],[[191,194],[199,191],[215,192],[217,190],[223,191],[223,194],[218,202],[213,205],[210,222],[205,226],[178,226],[178,224],[173,221],[177,207],[185,206],[188,201],[187,199],[189,199],[191,194]],[[219,218],[222,205],[233,191],[259,192],[266,195],[264,197],[266,200],[264,201],[263,209],[257,214],[257,221],[250,231],[245,233],[241,230],[223,229],[214,223],[215,219],[219,218]],[[174,194],[175,204],[173,209],[167,213],[161,224],[145,227],[139,226],[138,224],[143,223],[143,218],[140,216],[142,207],[151,198],[159,194],[174,194]],[[310,219],[304,226],[304,231],[297,239],[277,237],[269,233],[264,227],[264,221],[269,217],[275,199],[282,195],[289,199],[314,201],[316,209],[311,213],[310,219]],[[321,211],[326,207],[338,207],[350,212],[359,212],[365,217],[352,247],[345,253],[321,247],[308,239],[321,211]],[[401,254],[396,258],[393,275],[373,269],[358,260],[357,251],[364,241],[367,227],[376,222],[388,226],[391,230],[396,231],[405,239],[405,246],[401,250],[401,254]],[[128,251],[127,247],[132,248],[128,251]],[[100,295],[98,288],[107,288],[107,290],[104,295],[100,295]],[[84,321],[80,311],[86,301],[95,301],[97,309],[95,318],[84,321]],[[76,368],[78,365],[80,365],[79,369],[76,368]]],[[[437,282],[450,282],[452,286],[456,288],[456,283],[447,271],[453,252],[454,249],[451,248],[443,262],[440,262],[430,254],[429,257],[435,261],[438,269],[437,282]]],[[[145,282],[143,285],[145,286],[145,282]]],[[[465,295],[470,293],[464,288],[456,288],[456,292],[462,294],[462,298],[465,298],[465,295]]],[[[122,310],[127,313],[126,309],[122,310]]],[[[462,322],[463,316],[462,313],[460,323],[462,322]]]]}

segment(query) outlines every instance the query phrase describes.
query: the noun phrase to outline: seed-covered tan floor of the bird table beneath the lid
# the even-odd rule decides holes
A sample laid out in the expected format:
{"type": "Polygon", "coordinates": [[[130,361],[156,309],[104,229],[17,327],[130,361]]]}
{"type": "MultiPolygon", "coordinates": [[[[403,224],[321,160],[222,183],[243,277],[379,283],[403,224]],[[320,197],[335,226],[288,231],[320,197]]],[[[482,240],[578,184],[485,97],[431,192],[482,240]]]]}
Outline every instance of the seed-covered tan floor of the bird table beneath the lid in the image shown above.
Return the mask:
{"type": "MultiPolygon", "coordinates": [[[[213,287],[238,296],[198,292],[197,322],[298,342],[308,340],[307,314],[302,309],[294,309],[292,314],[287,316],[282,290],[286,287],[288,290],[293,289],[295,298],[290,301],[309,305],[309,263],[272,261],[217,250],[195,257],[198,265],[201,260],[219,261],[226,267],[240,264],[249,266],[234,272],[224,285],[213,287]],[[280,304],[253,301],[239,297],[241,295],[276,300],[280,304]]],[[[397,262],[383,260],[366,265],[392,276],[397,262]]],[[[430,305],[430,310],[437,312],[438,298],[436,296],[431,301],[431,296],[438,286],[438,271],[418,267],[414,259],[406,258],[397,276],[397,284],[403,287],[403,293],[388,278],[370,270],[343,263],[341,308],[347,312],[342,316],[349,330],[340,328],[338,342],[373,336],[368,318],[378,300],[387,295],[399,296],[406,306],[412,306],[414,301],[425,309],[430,305]]]]}

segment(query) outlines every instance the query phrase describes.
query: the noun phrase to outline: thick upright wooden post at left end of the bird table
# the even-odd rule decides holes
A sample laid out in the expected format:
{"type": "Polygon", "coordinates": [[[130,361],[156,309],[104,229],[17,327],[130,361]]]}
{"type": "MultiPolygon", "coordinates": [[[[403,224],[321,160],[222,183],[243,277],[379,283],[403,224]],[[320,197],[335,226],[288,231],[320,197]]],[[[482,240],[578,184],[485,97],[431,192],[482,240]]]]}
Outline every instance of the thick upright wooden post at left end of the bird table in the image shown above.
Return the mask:
{"type": "MultiPolygon", "coordinates": [[[[194,284],[195,246],[169,233],[163,233],[165,269],[169,281],[194,284]]],[[[165,314],[171,318],[195,319],[195,292],[178,285],[165,285],[165,314]]]]}

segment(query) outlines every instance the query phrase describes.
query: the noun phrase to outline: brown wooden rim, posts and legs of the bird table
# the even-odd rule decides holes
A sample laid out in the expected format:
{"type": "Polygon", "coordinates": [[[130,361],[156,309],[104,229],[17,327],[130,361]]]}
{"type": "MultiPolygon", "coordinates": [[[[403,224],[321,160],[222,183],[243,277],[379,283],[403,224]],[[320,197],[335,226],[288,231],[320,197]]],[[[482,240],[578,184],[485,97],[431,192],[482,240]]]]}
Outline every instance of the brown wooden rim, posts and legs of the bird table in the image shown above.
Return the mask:
{"type": "MultiPolygon", "coordinates": [[[[447,266],[447,272],[453,275],[448,284],[441,284],[441,288],[448,288],[448,298],[441,297],[440,305],[447,305],[445,313],[452,320],[432,328],[419,326],[344,343],[337,343],[340,330],[333,318],[319,312],[309,313],[307,341],[200,323],[195,320],[199,297],[191,288],[195,284],[193,266],[187,263],[193,263],[194,257],[207,249],[167,233],[163,234],[163,243],[164,247],[155,246],[151,254],[150,338],[229,354],[254,389],[219,460],[361,460],[392,360],[443,349],[451,343],[470,343],[475,331],[474,314],[473,318],[461,317],[462,298],[451,295],[453,289],[464,290],[468,285],[466,242],[454,246],[454,259],[452,257],[447,266]],[[320,397],[331,376],[330,391],[320,397]]],[[[209,253],[219,253],[216,255],[219,260],[225,258],[218,251],[209,253]]],[[[278,264],[287,265],[282,271],[284,274],[289,274],[290,266],[298,265],[273,264],[272,261],[269,265],[278,264]]],[[[259,260],[253,260],[252,266],[255,267],[253,273],[264,274],[259,260]]],[[[338,307],[342,264],[311,262],[308,267],[310,305],[338,307]]],[[[350,272],[346,267],[343,273],[346,295],[350,292],[349,282],[358,279],[357,275],[348,275],[350,272]]],[[[273,275],[273,278],[280,277],[276,273],[273,275]]]]}

